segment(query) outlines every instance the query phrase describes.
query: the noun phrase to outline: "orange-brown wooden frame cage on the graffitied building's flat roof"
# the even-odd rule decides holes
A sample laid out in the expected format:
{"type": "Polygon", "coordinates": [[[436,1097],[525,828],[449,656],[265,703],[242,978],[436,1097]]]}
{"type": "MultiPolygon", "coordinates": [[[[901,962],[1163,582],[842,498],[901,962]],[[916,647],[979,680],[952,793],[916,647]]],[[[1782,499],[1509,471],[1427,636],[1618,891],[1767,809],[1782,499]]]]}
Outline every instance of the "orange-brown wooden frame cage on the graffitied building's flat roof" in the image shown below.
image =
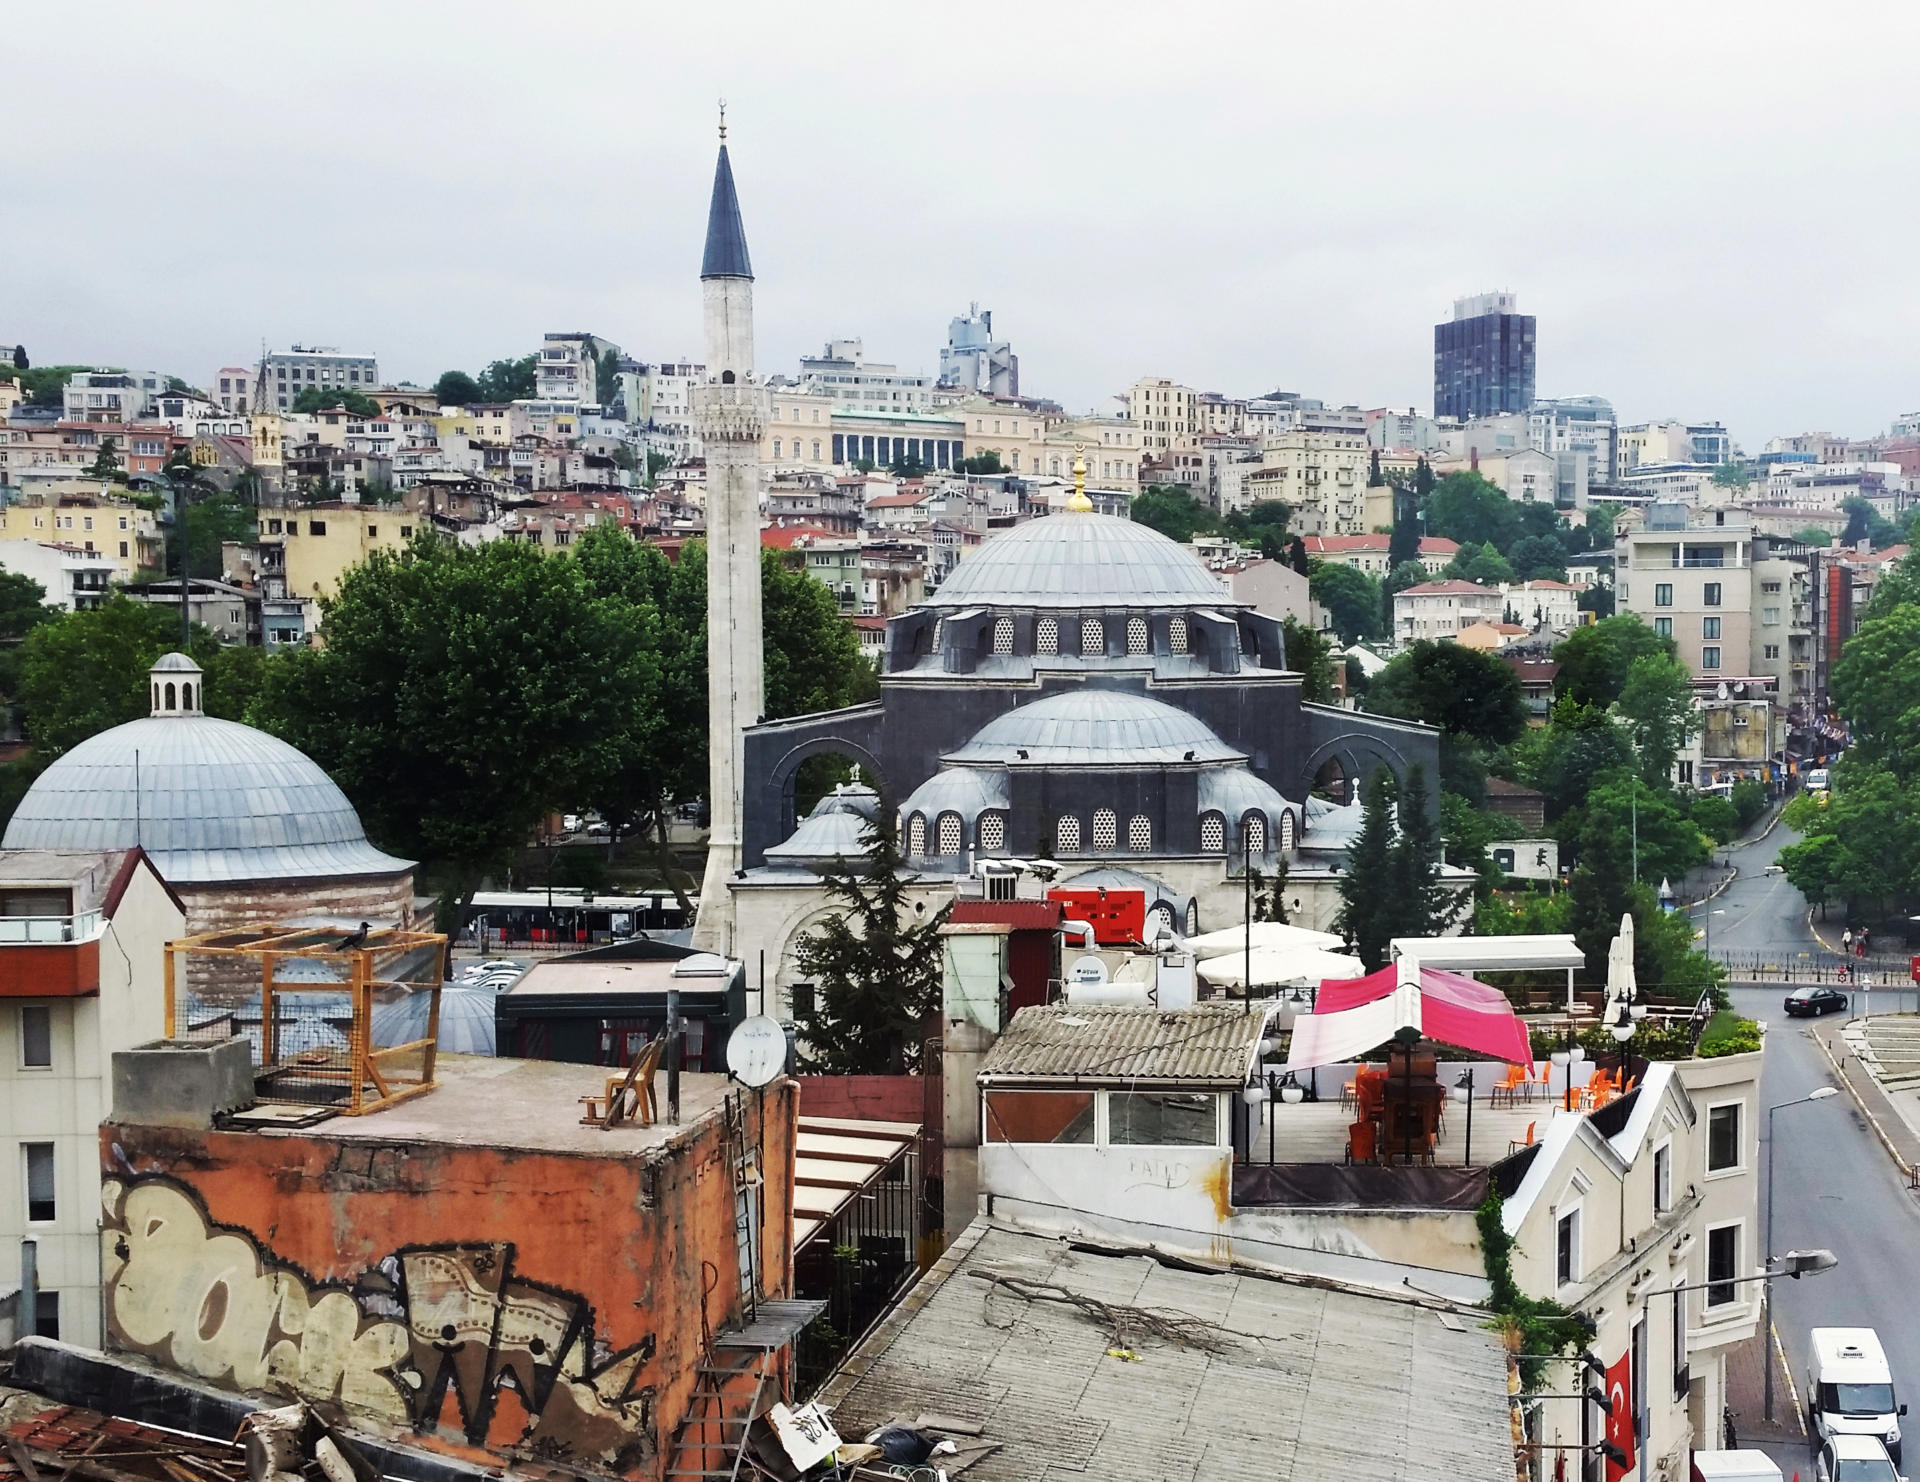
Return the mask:
{"type": "Polygon", "coordinates": [[[434,1088],[447,939],[342,921],[207,931],[165,948],[169,1039],[246,1039],[261,1102],[348,1115],[434,1088]],[[374,1046],[374,1002],[430,992],[426,1039],[374,1046]]]}

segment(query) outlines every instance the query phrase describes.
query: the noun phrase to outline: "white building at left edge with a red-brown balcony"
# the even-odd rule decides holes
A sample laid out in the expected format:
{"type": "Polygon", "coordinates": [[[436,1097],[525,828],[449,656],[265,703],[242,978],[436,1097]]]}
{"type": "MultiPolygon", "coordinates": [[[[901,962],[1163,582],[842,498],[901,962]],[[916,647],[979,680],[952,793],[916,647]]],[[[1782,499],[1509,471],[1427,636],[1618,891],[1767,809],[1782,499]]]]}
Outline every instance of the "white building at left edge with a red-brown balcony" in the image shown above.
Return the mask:
{"type": "Polygon", "coordinates": [[[100,1123],[115,1050],[167,1033],[161,958],[186,910],[138,849],[0,850],[0,1290],[17,1330],[88,1348],[100,1327],[100,1123]]]}

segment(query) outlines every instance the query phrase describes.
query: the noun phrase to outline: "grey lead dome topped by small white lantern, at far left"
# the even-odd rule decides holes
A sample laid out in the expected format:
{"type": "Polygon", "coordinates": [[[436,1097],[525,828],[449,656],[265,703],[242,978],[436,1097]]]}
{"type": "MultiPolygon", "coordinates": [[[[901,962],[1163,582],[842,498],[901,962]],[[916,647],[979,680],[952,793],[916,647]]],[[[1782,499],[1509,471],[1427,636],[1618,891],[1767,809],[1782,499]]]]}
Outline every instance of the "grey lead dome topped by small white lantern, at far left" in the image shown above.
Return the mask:
{"type": "Polygon", "coordinates": [[[4,849],[140,847],[175,885],[397,875],[317,762],[200,708],[200,666],[152,668],[152,714],[88,737],[38,776],[4,849]]]}

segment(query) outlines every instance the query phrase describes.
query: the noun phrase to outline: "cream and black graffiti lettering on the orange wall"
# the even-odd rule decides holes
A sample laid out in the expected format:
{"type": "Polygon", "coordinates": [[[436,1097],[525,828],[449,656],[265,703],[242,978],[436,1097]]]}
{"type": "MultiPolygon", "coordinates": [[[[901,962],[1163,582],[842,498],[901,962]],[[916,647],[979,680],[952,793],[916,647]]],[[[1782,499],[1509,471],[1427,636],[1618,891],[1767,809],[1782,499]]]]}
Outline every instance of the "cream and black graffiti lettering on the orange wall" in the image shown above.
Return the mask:
{"type": "Polygon", "coordinates": [[[628,1470],[659,1446],[649,1334],[612,1351],[586,1298],[520,1277],[509,1240],[405,1246],[319,1282],[215,1225],[173,1179],[102,1184],[108,1334],[236,1390],[292,1388],[472,1446],[628,1470]]]}

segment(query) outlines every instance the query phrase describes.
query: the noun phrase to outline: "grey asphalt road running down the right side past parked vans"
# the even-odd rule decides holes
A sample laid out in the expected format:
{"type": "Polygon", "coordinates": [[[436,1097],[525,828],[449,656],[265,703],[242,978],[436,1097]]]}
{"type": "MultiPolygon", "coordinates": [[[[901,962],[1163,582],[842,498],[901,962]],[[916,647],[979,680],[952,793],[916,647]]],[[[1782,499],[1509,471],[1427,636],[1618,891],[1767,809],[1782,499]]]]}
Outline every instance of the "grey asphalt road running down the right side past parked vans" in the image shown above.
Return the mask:
{"type": "MultiPolygon", "coordinates": [[[[1807,902],[1784,875],[1764,873],[1784,845],[1786,827],[1753,845],[1736,847],[1740,877],[1724,895],[1693,908],[1711,910],[1713,944],[1734,950],[1776,950],[1786,956],[1816,950],[1807,935],[1807,902]]],[[[1766,1060],[1761,1106],[1780,1106],[1822,1085],[1837,1085],[1826,1056],[1812,1042],[1807,1019],[1780,1012],[1784,989],[1736,989],[1741,1014],[1766,1019],[1766,1060]]],[[[1832,1031],[1836,1017],[1816,1019],[1832,1031]]],[[[1920,1254],[1920,1198],[1908,1192],[1893,1161],[1841,1092],[1774,1115],[1772,1177],[1774,1252],[1826,1248],[1839,1267],[1824,1277],[1774,1282],[1774,1330],[1786,1350],[1793,1384],[1803,1386],[1807,1332],[1814,1327],[1870,1327],[1880,1332],[1901,1399],[1920,1401],[1920,1282],[1912,1261],[1920,1254]]],[[[1766,1121],[1761,1121],[1761,1217],[1766,1211],[1766,1121]]],[[[1799,1396],[1805,1403],[1805,1394],[1799,1396]]],[[[1791,1399],[1776,1394],[1776,1419],[1791,1399]]],[[[1910,1421],[1903,1470],[1920,1459],[1920,1405],[1910,1421]]],[[[1903,1432],[1908,1430],[1903,1426],[1903,1432]]]]}

